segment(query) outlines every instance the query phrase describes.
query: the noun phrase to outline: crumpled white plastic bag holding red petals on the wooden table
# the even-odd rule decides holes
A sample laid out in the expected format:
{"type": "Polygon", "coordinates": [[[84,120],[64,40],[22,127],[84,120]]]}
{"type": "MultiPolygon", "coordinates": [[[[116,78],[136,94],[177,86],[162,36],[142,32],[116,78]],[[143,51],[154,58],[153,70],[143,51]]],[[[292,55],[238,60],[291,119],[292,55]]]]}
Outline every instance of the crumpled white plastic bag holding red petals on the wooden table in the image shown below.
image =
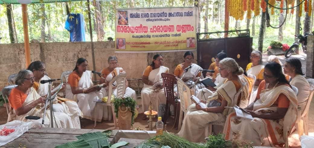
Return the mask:
{"type": "Polygon", "coordinates": [[[7,136],[0,136],[0,146],[6,145],[7,143],[13,141],[19,136],[23,135],[28,129],[32,127],[33,122],[23,122],[20,120],[14,120],[8,122],[4,125],[0,125],[0,130],[3,129],[4,126],[9,129],[14,129],[15,131],[7,136]]]}

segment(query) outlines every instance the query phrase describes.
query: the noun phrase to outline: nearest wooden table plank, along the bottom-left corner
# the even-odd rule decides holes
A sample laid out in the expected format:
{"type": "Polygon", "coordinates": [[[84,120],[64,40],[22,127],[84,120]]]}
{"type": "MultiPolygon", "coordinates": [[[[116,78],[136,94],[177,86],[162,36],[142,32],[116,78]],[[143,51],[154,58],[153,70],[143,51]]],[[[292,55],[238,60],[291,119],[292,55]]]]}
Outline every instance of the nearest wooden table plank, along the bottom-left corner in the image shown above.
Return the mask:
{"type": "Polygon", "coordinates": [[[49,144],[49,143],[34,143],[34,142],[14,142],[11,141],[6,145],[1,146],[1,148],[4,147],[27,147],[27,148],[54,148],[57,144],[49,144]],[[19,146],[19,144],[22,144],[21,146],[19,146]],[[25,146],[24,146],[25,145],[25,146]]]}

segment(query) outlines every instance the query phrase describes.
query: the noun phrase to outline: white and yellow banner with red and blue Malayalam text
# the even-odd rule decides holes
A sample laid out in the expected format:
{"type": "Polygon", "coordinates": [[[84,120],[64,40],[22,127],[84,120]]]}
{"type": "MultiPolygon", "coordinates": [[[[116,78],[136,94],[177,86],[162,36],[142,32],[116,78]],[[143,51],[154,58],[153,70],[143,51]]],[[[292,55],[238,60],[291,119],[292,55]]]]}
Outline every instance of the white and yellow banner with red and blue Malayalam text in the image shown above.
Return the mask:
{"type": "Polygon", "coordinates": [[[116,11],[116,52],[196,49],[196,7],[130,8],[116,11]]]}

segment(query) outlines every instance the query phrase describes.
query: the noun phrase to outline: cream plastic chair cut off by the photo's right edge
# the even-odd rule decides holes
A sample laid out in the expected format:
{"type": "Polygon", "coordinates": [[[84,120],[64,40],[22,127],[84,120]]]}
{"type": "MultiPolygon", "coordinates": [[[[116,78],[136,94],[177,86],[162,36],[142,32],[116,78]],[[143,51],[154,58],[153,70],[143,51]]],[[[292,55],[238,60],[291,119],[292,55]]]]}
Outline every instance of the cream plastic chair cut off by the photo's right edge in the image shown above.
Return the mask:
{"type": "Polygon", "coordinates": [[[301,113],[301,118],[300,118],[300,121],[298,123],[299,137],[301,135],[303,135],[303,133],[305,135],[309,135],[307,125],[309,124],[308,114],[309,114],[309,110],[310,110],[310,104],[311,104],[311,100],[314,97],[314,79],[307,79],[307,82],[309,82],[309,84],[310,84],[309,98],[307,100],[305,100],[304,102],[298,103],[298,105],[306,104],[303,112],[301,113]]]}

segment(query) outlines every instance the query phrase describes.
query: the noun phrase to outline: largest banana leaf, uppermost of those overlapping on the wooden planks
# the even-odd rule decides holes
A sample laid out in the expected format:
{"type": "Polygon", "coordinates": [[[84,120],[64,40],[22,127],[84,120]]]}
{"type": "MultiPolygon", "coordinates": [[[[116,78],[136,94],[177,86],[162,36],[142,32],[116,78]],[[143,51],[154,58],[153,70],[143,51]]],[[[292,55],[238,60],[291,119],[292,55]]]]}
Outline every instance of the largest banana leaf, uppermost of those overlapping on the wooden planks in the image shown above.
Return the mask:
{"type": "Polygon", "coordinates": [[[86,133],[76,138],[85,140],[93,148],[109,148],[108,137],[101,132],[86,133]]]}

